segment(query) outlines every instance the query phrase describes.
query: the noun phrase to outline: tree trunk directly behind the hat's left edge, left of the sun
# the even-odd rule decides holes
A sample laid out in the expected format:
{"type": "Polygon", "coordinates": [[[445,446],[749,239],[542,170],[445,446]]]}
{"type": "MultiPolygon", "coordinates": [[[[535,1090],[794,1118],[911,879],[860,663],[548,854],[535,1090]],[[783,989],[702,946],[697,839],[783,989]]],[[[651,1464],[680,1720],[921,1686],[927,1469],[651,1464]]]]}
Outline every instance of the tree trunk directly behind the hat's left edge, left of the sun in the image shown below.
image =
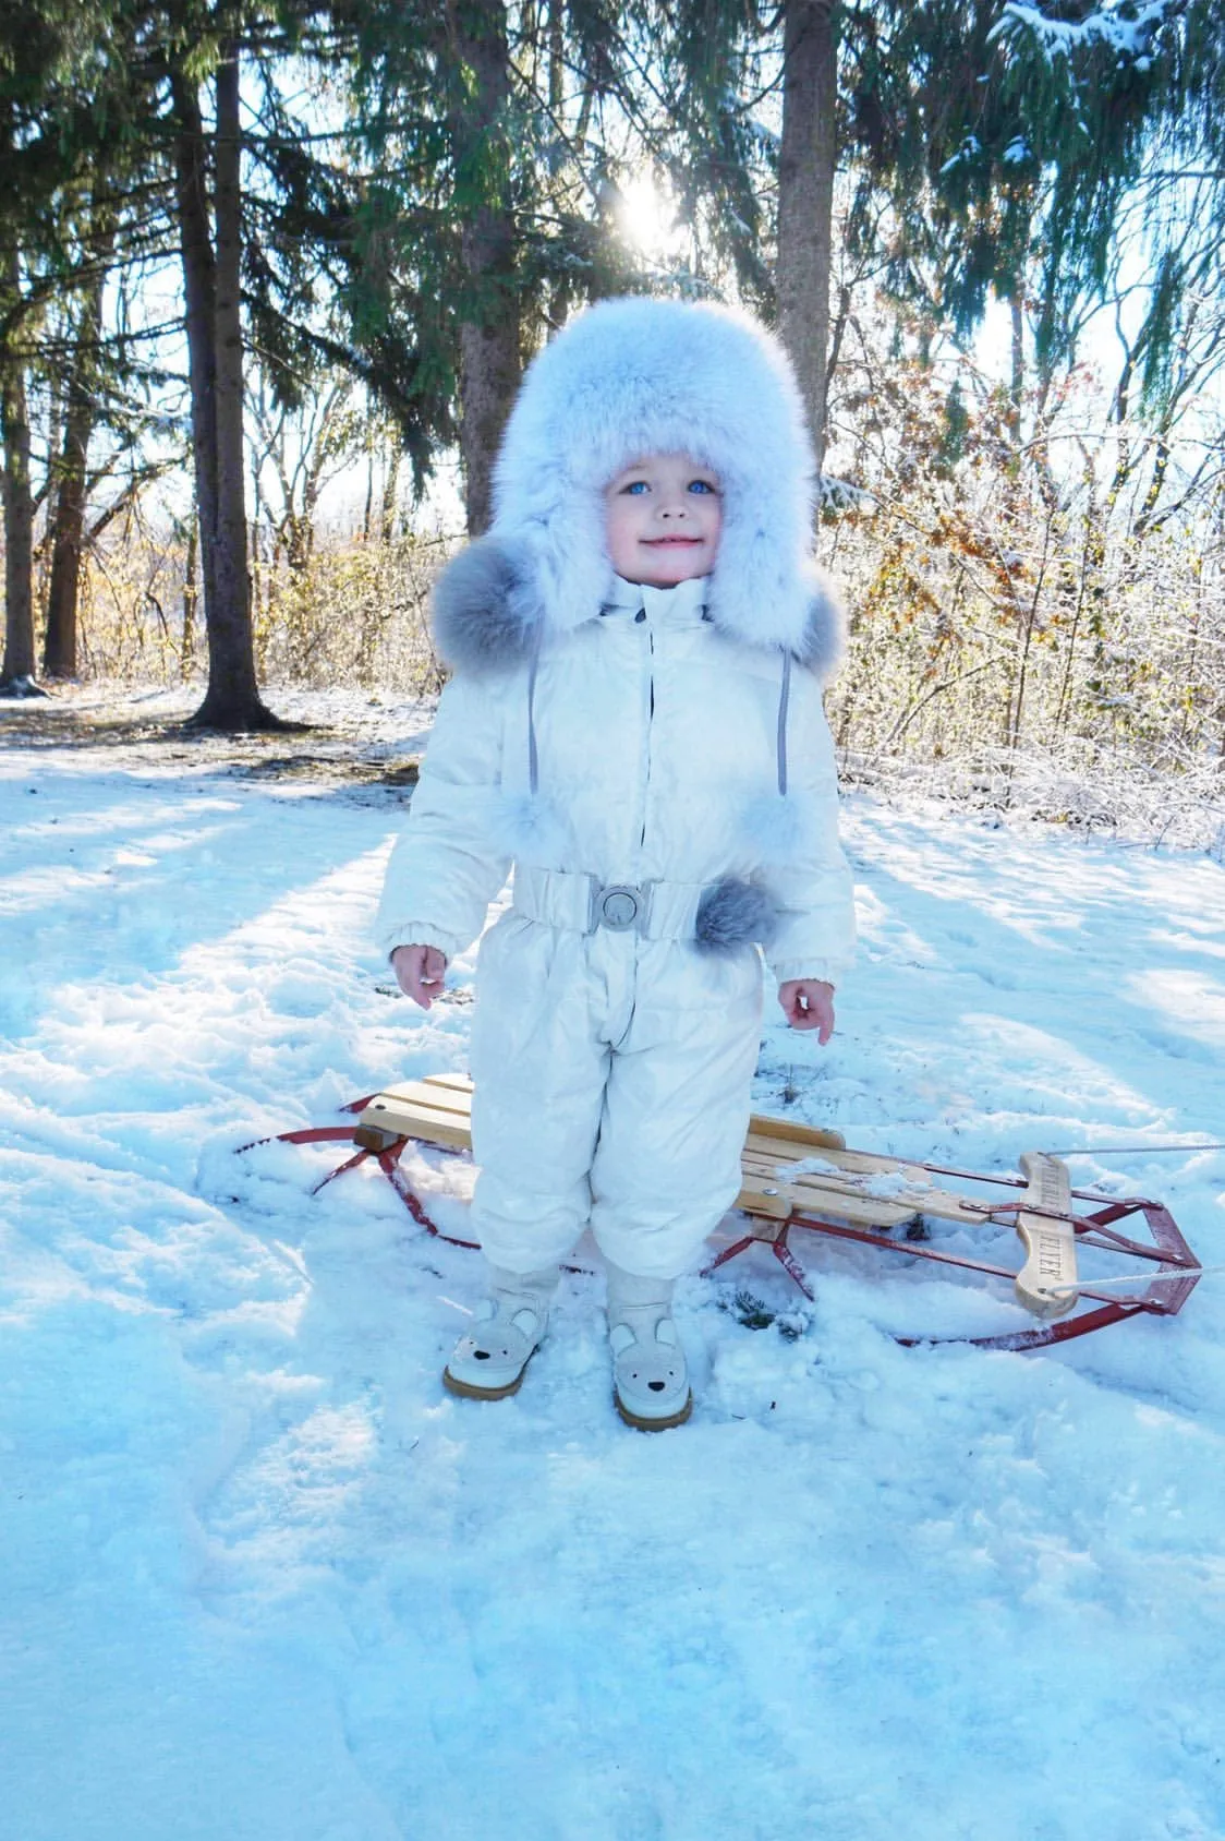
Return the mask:
{"type": "Polygon", "coordinates": [[[460,458],[467,528],[478,536],[493,510],[493,462],[521,376],[515,219],[502,145],[509,98],[506,4],[460,0],[447,9],[447,29],[452,52],[471,72],[471,90],[456,90],[451,133],[456,173],[478,199],[460,230],[469,284],[460,326],[460,458]]]}

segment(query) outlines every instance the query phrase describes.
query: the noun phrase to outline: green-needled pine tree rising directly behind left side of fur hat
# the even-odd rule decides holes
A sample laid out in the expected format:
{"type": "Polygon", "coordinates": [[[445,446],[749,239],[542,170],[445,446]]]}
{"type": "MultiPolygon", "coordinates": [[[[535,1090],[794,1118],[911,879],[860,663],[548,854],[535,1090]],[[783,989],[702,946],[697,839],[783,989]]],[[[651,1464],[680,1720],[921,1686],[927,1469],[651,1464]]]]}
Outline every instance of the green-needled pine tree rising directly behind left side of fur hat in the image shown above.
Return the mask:
{"type": "MultiPolygon", "coordinates": [[[[384,272],[355,276],[361,318],[403,326],[412,307],[421,379],[454,403],[473,532],[543,331],[578,302],[644,285],[607,221],[616,156],[598,133],[603,107],[622,131],[640,120],[640,42],[638,11],[603,0],[362,7],[355,96],[379,173],[366,247],[383,239],[384,272]]],[[[434,425],[445,433],[438,407],[434,425]]]]}

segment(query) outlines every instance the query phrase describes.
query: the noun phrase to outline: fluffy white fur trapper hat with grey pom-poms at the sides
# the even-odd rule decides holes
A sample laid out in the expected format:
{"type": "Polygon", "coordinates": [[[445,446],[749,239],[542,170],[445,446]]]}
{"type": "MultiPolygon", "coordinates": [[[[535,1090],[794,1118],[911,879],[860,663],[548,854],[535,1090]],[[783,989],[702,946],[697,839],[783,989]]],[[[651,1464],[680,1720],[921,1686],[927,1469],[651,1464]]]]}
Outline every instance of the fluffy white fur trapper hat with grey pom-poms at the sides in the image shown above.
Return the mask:
{"type": "Polygon", "coordinates": [[[714,624],[831,670],[842,619],[811,560],[815,464],[787,357],[747,313],[649,298],[589,307],[528,368],[489,536],[436,589],[447,663],[500,668],[600,613],[603,490],[651,453],[692,453],[719,477],[714,624]]]}

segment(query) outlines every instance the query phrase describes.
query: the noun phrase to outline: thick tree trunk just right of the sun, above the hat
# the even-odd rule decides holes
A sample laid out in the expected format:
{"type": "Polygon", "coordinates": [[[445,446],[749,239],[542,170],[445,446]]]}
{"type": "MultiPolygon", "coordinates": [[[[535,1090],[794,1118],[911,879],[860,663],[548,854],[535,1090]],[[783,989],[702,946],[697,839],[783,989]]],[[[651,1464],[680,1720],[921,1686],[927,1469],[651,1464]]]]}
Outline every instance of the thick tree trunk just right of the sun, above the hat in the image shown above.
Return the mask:
{"type": "Polygon", "coordinates": [[[787,0],[778,155],[778,330],[826,453],[839,46],[833,0],[787,0]]]}

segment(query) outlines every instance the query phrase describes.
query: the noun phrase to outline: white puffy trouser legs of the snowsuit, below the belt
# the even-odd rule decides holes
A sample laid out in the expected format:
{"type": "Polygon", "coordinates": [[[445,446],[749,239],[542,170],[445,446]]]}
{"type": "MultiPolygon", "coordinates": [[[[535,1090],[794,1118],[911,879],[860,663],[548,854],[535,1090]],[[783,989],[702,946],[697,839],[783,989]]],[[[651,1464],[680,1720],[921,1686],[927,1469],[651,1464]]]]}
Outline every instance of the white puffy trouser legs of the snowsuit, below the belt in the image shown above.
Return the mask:
{"type": "Polygon", "coordinates": [[[671,1279],[739,1193],[761,1035],[756,948],[579,933],[509,909],[473,1020],[473,1224],[533,1272],[590,1224],[624,1272],[671,1279]]]}

